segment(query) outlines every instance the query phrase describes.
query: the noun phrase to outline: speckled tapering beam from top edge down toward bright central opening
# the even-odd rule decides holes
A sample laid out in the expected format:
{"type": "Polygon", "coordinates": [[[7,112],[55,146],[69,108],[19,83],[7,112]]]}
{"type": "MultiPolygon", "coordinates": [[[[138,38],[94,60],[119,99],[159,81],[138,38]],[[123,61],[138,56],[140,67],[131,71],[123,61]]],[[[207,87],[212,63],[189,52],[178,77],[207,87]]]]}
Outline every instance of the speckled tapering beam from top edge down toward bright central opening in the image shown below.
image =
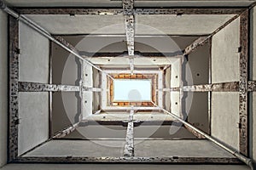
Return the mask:
{"type": "Polygon", "coordinates": [[[133,0],[123,0],[123,9],[125,17],[125,32],[126,42],[129,55],[129,65],[131,69],[131,75],[134,71],[134,15],[133,15],[133,0]]]}

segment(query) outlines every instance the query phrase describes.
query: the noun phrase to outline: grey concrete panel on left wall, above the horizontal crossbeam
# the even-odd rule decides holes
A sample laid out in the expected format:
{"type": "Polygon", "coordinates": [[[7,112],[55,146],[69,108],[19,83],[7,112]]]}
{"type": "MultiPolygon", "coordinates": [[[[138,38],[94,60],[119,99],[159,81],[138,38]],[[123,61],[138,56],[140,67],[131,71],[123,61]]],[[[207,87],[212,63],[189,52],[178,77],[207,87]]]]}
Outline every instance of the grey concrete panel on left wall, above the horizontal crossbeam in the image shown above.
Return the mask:
{"type": "Polygon", "coordinates": [[[49,82],[49,40],[20,23],[20,82],[49,82]]]}

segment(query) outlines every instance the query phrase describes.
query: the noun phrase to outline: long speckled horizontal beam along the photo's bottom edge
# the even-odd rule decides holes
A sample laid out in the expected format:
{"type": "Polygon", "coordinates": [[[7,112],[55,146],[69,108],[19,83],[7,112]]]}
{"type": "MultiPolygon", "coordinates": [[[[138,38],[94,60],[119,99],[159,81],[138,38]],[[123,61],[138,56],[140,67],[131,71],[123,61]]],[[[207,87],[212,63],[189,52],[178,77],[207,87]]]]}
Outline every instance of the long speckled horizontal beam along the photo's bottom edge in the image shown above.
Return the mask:
{"type": "Polygon", "coordinates": [[[25,156],[15,160],[17,163],[85,163],[85,162],[113,162],[113,163],[232,163],[241,164],[236,157],[83,157],[83,156],[25,156]]]}

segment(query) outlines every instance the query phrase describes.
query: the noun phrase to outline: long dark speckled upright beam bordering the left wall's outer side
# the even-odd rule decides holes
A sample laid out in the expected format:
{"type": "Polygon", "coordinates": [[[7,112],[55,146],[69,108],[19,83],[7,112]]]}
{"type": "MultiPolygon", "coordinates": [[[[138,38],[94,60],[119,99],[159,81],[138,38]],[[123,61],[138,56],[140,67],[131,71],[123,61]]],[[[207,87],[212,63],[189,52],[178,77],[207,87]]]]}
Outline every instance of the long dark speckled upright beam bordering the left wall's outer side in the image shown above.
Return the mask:
{"type": "Polygon", "coordinates": [[[19,21],[9,17],[9,162],[18,156],[19,21]]]}

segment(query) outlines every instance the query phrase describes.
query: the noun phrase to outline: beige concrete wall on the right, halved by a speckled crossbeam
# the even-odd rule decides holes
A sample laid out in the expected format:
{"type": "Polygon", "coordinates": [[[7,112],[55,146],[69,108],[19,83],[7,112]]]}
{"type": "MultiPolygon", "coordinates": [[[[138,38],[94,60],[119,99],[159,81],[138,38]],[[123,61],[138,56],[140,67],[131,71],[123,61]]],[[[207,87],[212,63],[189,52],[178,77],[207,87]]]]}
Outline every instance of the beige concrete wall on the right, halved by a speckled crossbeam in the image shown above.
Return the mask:
{"type": "MultiPolygon", "coordinates": [[[[212,83],[239,81],[239,19],[212,37],[212,83]]],[[[239,94],[212,92],[212,136],[239,149],[239,94]]]]}

